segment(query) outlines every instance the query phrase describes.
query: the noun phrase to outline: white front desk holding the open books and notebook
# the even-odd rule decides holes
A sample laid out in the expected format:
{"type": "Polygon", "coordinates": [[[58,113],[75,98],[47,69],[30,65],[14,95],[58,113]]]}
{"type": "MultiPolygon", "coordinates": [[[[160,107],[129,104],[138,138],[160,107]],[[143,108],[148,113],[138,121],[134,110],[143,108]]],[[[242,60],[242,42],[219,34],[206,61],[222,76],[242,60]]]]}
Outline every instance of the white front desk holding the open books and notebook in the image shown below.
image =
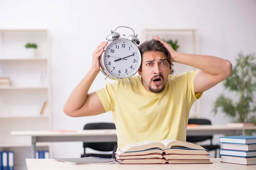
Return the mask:
{"type": "Polygon", "coordinates": [[[256,165],[239,165],[210,159],[212,164],[67,164],[53,159],[26,159],[27,170],[256,170],[256,165]]]}

